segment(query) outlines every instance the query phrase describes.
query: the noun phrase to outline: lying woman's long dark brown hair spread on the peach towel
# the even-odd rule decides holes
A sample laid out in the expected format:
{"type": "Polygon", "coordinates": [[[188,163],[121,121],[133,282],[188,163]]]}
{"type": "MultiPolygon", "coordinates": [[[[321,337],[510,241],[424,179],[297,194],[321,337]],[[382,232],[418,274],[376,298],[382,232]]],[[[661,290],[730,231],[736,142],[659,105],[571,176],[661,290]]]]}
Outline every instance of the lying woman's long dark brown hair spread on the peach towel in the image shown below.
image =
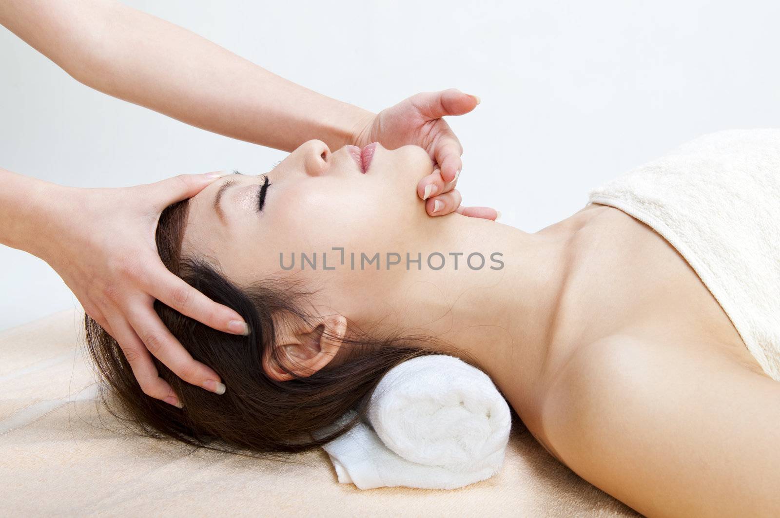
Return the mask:
{"type": "Polygon", "coordinates": [[[306,318],[297,303],[305,293],[279,282],[257,282],[239,289],[213,265],[183,257],[186,214],[184,201],[161,215],[156,240],[163,263],[211,300],[238,311],[252,332],[249,336],[219,332],[159,301],[155,303],[155,310],[176,339],[195,360],[213,368],[227,386],[222,396],[207,392],[181,380],[154,358],[161,378],[183,403],[184,408],[178,409],[142,392],[119,344],[87,317],[87,349],[104,381],[103,388],[108,389],[103,399],[115,417],[144,435],[260,456],[303,452],[349,431],[365,415],[367,396],[392,367],[437,352],[429,338],[353,336],[346,342],[356,353],[344,361],[329,364],[307,378],[269,378],[262,359],[264,351],[276,353],[274,317],[283,313],[306,318]],[[313,435],[332,426],[348,410],[357,411],[353,420],[328,435],[313,435]]]}

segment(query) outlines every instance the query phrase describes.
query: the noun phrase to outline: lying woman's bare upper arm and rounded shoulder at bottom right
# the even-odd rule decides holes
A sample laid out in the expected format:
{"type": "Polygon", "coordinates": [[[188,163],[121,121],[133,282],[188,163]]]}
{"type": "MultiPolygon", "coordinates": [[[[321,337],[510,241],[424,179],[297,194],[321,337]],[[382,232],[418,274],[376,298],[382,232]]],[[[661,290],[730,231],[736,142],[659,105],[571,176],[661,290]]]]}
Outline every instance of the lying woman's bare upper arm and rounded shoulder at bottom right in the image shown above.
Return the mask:
{"type": "Polygon", "coordinates": [[[613,337],[549,392],[544,431],[577,474],[646,516],[780,515],[780,383],[713,347],[613,337]]]}

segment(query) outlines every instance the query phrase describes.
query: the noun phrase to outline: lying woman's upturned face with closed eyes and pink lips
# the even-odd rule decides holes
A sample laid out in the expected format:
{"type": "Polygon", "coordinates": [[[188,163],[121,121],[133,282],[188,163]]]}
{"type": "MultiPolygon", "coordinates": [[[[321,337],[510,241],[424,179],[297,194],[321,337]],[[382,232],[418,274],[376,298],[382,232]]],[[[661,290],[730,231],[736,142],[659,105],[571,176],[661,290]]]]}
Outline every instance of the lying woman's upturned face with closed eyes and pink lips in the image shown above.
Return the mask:
{"type": "Polygon", "coordinates": [[[193,197],[183,254],[218,264],[239,286],[278,274],[354,282],[354,271],[365,270],[349,268],[350,252],[359,259],[361,252],[402,254],[424,239],[433,218],[416,188],[432,170],[431,158],[417,146],[388,151],[371,144],[361,159],[358,147],[332,153],[323,142],[310,140],[266,175],[227,176],[193,197]],[[367,170],[361,161],[370,161],[367,170]],[[301,254],[316,254],[316,267],[307,263],[302,270],[301,254]],[[291,257],[294,267],[285,269],[291,257]]]}

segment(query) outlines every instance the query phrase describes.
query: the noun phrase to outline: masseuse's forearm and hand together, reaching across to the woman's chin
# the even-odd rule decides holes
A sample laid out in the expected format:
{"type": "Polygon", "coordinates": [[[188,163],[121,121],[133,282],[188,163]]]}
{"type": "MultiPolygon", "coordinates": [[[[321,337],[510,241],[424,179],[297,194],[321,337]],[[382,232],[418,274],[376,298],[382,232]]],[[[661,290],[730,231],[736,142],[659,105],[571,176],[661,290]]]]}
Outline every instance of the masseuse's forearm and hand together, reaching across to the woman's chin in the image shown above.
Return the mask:
{"type": "Polygon", "coordinates": [[[113,0],[4,0],[0,24],[89,87],[228,137],[284,151],[311,139],[332,149],[374,140],[424,147],[439,166],[417,188],[429,215],[497,215],[459,208],[454,190],[463,148],[443,117],[471,112],[473,95],[421,93],[374,114],[113,0]]]}

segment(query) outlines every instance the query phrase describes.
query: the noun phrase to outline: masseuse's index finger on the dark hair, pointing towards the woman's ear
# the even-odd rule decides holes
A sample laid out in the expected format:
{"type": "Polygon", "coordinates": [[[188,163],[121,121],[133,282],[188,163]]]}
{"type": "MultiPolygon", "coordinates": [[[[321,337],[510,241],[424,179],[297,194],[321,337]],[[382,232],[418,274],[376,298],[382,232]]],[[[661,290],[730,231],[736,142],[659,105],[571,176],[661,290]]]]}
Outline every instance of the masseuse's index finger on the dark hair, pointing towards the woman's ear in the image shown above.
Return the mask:
{"type": "Polygon", "coordinates": [[[249,335],[249,327],[235,310],[209,299],[162,264],[147,277],[144,287],[161,303],[210,328],[234,335],[249,335]]]}

